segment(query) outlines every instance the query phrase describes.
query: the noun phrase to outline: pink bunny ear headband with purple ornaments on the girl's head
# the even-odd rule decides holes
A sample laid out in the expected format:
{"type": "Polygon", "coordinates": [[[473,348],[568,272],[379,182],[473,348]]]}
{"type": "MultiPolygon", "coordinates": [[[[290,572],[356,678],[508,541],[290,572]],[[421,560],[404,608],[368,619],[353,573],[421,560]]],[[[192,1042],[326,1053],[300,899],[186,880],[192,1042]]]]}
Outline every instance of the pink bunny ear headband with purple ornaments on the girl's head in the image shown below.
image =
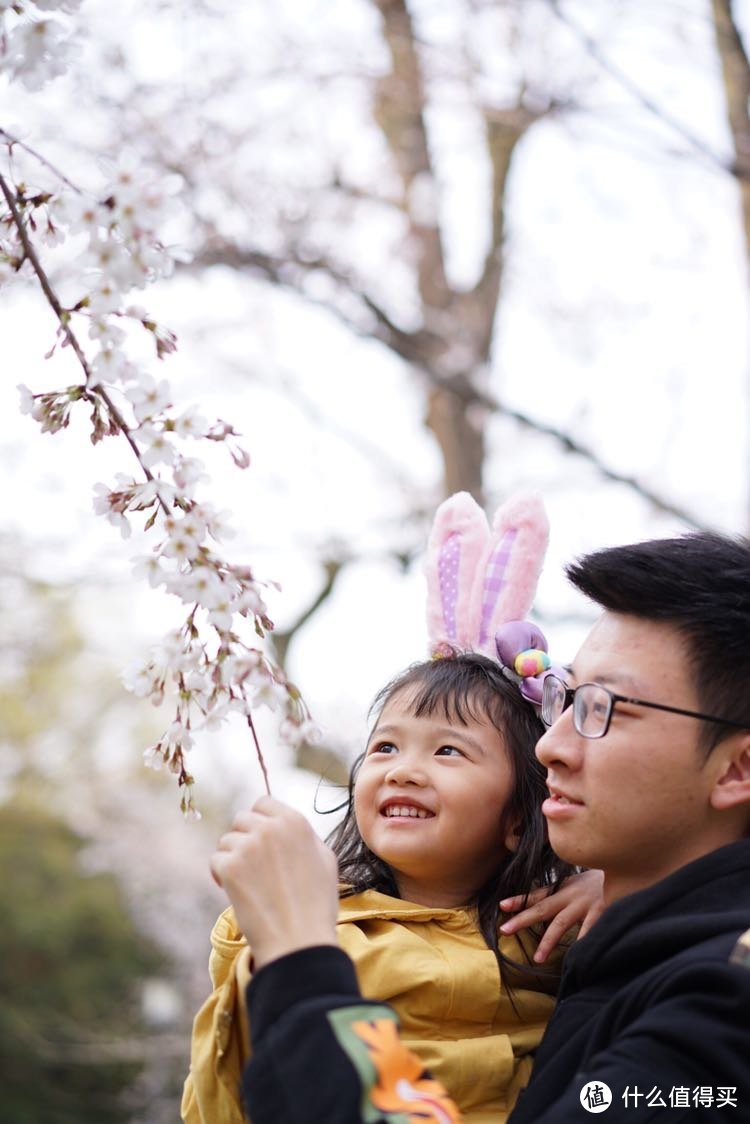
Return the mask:
{"type": "Polygon", "coordinates": [[[427,542],[427,633],[433,656],[481,652],[499,659],[531,703],[551,667],[544,635],[524,620],[549,540],[539,496],[514,496],[493,526],[468,492],[437,508],[427,542]]]}

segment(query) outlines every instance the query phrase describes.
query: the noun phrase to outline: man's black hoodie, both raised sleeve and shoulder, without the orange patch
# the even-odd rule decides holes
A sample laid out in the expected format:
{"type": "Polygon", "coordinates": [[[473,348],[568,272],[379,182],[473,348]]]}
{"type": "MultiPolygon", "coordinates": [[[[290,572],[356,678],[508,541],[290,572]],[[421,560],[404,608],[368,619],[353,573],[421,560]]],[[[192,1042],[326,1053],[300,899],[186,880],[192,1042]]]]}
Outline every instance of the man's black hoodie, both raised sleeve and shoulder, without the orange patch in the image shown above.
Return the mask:
{"type": "MultiPolygon", "coordinates": [[[[750,840],[611,906],[568,953],[508,1124],[584,1124],[599,1114],[604,1124],[750,1124],[750,964],[733,955],[749,928],[750,840]]],[[[441,1120],[373,1108],[362,1067],[328,1017],[362,1004],[337,949],[268,964],[247,998],[253,1124],[441,1120]]],[[[358,1012],[383,1014],[378,1004],[358,1012]]]]}

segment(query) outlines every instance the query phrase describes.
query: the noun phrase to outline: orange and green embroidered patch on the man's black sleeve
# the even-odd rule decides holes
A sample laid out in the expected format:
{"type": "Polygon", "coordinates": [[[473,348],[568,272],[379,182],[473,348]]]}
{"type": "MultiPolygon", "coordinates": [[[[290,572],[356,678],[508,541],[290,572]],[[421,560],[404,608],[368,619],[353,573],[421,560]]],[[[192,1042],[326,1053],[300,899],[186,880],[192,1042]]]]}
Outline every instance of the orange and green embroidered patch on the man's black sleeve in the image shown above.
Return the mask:
{"type": "Polygon", "coordinates": [[[364,1124],[461,1124],[440,1081],[398,1036],[398,1019],[383,1007],[340,1007],[328,1014],[338,1044],[362,1086],[364,1124]]]}

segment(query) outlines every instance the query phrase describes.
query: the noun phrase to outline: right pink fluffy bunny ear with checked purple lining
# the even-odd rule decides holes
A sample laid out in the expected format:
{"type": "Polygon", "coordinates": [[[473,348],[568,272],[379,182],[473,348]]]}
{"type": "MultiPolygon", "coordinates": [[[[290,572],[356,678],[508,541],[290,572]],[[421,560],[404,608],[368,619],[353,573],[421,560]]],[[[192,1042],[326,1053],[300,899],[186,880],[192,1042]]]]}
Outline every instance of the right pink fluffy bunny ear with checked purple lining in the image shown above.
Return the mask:
{"type": "Polygon", "coordinates": [[[521,620],[528,613],[549,535],[540,496],[514,496],[496,511],[469,608],[478,622],[477,651],[496,659],[496,631],[506,620],[521,620]]]}

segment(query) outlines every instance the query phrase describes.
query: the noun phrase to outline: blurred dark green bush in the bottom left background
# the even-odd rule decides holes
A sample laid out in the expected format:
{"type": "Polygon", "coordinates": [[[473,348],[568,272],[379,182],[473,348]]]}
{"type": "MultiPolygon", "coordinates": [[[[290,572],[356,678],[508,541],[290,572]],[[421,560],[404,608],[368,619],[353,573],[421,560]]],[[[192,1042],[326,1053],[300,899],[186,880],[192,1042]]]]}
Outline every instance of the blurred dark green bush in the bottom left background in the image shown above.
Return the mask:
{"type": "Polygon", "coordinates": [[[138,980],[160,967],[109,874],[46,813],[0,809],[0,1118],[120,1124],[141,1068],[138,980]]]}

